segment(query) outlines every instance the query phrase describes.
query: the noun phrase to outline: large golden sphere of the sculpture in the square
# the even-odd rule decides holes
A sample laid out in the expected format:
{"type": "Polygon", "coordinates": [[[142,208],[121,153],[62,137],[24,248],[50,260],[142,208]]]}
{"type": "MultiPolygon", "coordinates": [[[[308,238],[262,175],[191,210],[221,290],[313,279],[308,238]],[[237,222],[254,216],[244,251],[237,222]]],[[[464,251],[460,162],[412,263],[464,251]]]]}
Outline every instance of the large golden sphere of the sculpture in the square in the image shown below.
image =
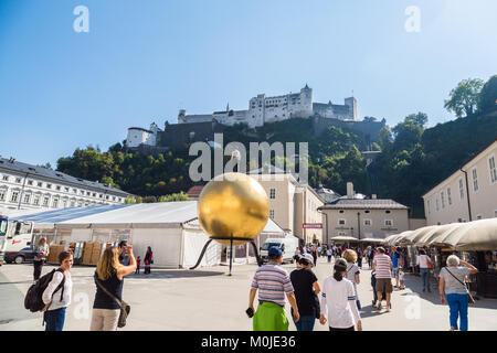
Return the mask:
{"type": "Polygon", "coordinates": [[[197,212],[202,229],[214,240],[230,245],[256,238],[269,217],[264,188],[242,173],[226,173],[211,180],[200,193],[197,212]]]}

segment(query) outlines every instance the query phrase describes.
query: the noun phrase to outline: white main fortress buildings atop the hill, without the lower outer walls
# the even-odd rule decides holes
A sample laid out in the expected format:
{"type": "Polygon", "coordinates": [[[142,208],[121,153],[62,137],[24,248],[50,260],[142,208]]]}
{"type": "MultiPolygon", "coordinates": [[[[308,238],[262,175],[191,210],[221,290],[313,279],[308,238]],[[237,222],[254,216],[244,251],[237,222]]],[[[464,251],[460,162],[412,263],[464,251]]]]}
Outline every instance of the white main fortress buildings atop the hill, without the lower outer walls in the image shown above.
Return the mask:
{"type": "Polygon", "coordinates": [[[188,115],[186,109],[181,109],[178,122],[205,122],[216,119],[218,122],[228,126],[243,122],[254,128],[267,122],[282,121],[293,117],[308,118],[314,115],[340,120],[357,120],[357,100],[353,97],[346,98],[343,105],[335,105],[331,100],[327,104],[314,103],[313,88],[306,85],[295,94],[274,97],[260,94],[248,100],[247,110],[232,110],[228,106],[223,111],[188,115]]]}

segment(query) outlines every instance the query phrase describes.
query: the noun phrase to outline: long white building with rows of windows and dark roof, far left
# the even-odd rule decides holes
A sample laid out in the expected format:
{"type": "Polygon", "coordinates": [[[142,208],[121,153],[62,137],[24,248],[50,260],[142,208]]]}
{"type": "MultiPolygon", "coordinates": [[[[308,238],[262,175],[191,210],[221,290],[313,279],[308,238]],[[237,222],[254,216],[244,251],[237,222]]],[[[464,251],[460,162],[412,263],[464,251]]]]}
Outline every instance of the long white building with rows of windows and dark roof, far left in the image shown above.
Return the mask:
{"type": "Polygon", "coordinates": [[[0,212],[123,204],[127,196],[98,182],[0,157],[0,212]]]}

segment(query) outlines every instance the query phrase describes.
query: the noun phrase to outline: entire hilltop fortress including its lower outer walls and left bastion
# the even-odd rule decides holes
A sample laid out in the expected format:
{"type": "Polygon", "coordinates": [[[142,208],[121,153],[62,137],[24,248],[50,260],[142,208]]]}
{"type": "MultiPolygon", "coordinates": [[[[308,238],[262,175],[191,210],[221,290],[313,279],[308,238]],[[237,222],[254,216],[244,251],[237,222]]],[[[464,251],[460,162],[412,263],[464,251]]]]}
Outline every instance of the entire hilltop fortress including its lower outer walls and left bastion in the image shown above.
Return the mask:
{"type": "Polygon", "coordinates": [[[197,141],[212,141],[213,135],[222,132],[228,126],[243,124],[254,129],[290,118],[311,119],[316,135],[334,125],[360,131],[371,142],[378,140],[379,132],[385,125],[384,119],[381,122],[371,118],[360,120],[355,97],[345,98],[343,105],[332,104],[331,100],[315,103],[313,88],[306,84],[299,93],[274,97],[260,94],[248,100],[246,110],[233,110],[228,105],[222,111],[189,115],[186,109],[181,109],[178,114],[178,124],[166,121],[163,130],[155,122],[149,129],[129,128],[125,145],[128,149],[145,153],[161,152],[197,141]]]}

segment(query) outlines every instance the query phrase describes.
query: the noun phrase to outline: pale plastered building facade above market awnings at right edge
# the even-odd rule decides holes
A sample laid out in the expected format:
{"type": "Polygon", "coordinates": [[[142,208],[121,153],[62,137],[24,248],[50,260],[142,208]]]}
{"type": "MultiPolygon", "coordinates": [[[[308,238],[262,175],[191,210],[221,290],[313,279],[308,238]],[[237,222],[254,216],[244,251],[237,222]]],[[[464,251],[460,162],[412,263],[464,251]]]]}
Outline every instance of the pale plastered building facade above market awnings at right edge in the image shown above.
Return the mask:
{"type": "Polygon", "coordinates": [[[497,217],[497,139],[423,195],[427,225],[497,217]]]}

